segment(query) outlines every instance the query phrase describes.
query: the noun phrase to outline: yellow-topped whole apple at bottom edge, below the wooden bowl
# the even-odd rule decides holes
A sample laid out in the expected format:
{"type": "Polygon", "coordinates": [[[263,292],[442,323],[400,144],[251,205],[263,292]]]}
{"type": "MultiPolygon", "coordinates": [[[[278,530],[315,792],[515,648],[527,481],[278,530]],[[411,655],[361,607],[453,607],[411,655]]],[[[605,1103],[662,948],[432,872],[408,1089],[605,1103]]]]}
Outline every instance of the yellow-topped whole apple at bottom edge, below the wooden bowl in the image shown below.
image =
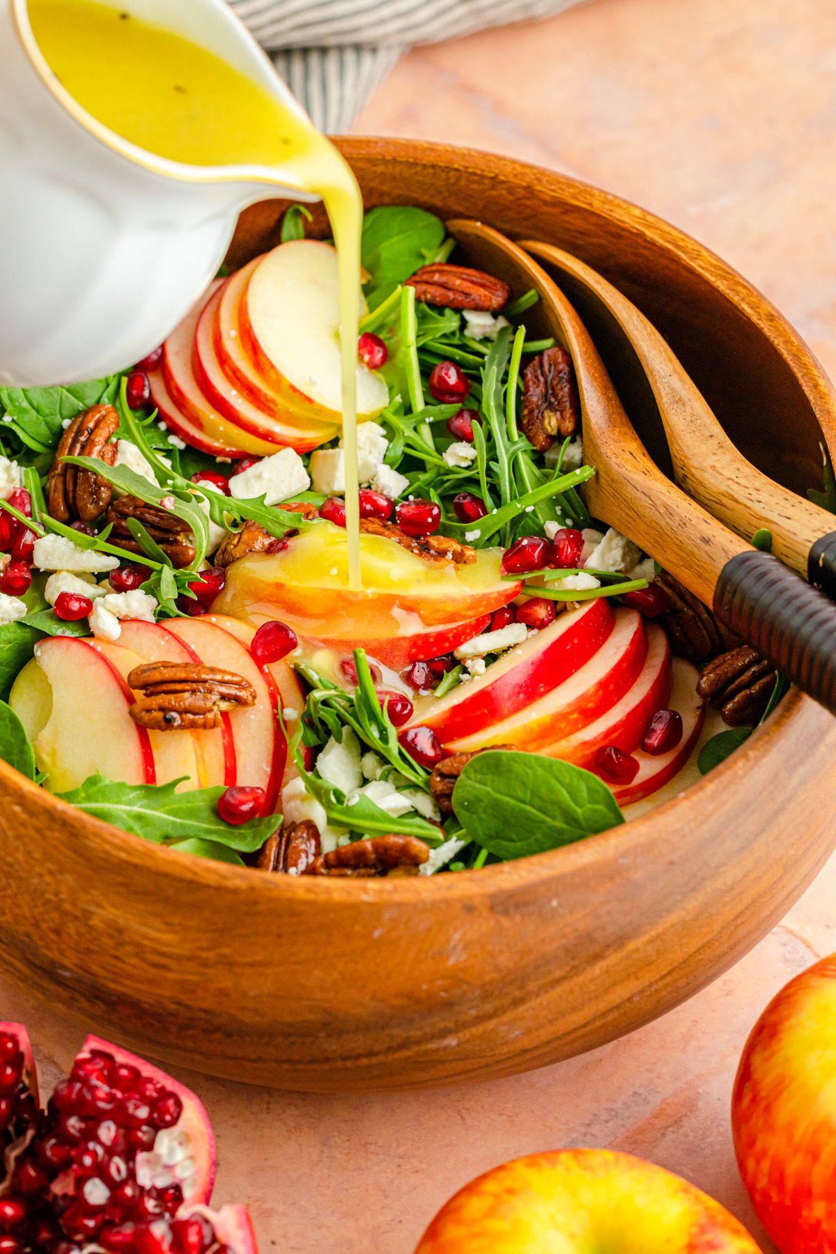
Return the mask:
{"type": "Polygon", "coordinates": [[[465,1185],[415,1254],[758,1254],[719,1203],[613,1150],[530,1154],[465,1185]]]}

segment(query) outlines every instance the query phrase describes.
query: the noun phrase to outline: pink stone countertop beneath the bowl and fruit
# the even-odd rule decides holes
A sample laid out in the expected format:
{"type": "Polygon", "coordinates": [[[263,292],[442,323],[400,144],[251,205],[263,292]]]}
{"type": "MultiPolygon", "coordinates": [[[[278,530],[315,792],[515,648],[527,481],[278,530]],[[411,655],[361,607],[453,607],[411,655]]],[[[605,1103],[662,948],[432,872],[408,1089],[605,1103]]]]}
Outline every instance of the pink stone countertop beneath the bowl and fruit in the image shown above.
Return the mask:
{"type": "MultiPolygon", "coordinates": [[[[836,6],[820,0],[593,0],[539,26],[412,53],[357,132],[509,153],[654,209],[761,287],[836,374],[835,69],[836,6]]],[[[731,1086],[768,998],[836,948],[833,902],[836,859],[692,1001],[528,1076],[328,1097],[182,1073],[218,1132],[216,1200],[251,1205],[262,1254],[411,1254],[478,1172],[602,1145],[687,1176],[771,1250],[734,1167],[731,1086]]],[[[3,983],[0,1017],[29,1023],[46,1085],[80,1042],[3,983]]]]}

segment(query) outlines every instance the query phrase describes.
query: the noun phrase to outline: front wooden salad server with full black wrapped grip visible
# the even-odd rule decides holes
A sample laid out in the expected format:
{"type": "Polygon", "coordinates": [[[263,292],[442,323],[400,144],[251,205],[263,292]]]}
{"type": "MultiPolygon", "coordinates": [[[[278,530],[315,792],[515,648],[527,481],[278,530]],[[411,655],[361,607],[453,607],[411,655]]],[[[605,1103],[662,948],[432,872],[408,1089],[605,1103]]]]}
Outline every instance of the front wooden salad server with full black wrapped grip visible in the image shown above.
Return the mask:
{"type": "Polygon", "coordinates": [[[717,618],[836,714],[836,604],[752,548],[659,470],[628,419],[589,334],[546,272],[520,247],[480,222],[447,231],[471,265],[540,300],[525,315],[538,339],[554,336],[574,369],[584,461],[595,477],[580,488],[595,518],[629,535],[717,618]]]}

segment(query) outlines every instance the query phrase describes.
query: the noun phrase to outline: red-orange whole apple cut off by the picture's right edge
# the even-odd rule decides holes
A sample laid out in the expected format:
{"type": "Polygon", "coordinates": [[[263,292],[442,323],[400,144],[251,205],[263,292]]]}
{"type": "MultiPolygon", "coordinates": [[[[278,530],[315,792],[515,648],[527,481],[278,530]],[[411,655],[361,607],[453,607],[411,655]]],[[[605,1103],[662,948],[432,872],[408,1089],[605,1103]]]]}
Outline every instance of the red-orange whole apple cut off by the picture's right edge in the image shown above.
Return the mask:
{"type": "Polygon", "coordinates": [[[755,1025],[732,1096],[743,1184],[782,1254],[836,1249],[836,954],[755,1025]]]}

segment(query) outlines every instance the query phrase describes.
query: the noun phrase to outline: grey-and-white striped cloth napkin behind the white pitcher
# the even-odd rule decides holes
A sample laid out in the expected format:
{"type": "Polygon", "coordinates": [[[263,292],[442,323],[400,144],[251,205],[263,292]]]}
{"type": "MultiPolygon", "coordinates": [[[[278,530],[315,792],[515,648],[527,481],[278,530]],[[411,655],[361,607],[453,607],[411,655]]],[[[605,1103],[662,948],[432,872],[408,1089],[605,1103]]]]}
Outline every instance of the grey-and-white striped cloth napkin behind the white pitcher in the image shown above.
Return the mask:
{"type": "Polygon", "coordinates": [[[316,125],[347,130],[415,44],[548,18],[579,0],[229,0],[316,125]]]}

